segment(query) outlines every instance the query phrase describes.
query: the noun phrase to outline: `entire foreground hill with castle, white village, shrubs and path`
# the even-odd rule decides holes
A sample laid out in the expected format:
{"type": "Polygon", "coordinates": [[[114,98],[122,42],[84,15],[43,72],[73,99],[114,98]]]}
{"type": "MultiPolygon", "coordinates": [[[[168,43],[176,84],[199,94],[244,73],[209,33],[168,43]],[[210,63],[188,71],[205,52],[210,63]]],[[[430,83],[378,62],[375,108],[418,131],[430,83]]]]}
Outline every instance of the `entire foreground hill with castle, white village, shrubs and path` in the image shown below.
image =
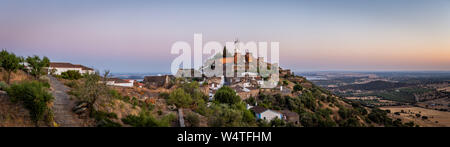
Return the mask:
{"type": "Polygon", "coordinates": [[[1,126],[415,126],[389,118],[389,111],[342,99],[261,57],[230,55],[226,48],[198,70],[180,69],[143,81],[46,57],[20,60],[5,50],[1,55],[8,60],[1,70],[1,126]],[[260,64],[278,70],[261,76],[266,70],[252,67],[260,64]],[[223,70],[205,76],[215,68],[223,70]],[[244,72],[227,73],[228,68],[244,72]]]}

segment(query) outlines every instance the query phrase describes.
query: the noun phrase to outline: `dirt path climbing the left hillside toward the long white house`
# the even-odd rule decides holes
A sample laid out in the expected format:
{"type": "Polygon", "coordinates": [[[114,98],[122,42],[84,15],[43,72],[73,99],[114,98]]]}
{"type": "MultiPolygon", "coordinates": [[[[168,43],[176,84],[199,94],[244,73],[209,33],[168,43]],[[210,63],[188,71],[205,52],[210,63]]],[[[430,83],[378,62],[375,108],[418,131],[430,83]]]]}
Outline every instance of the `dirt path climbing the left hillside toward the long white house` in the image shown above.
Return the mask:
{"type": "Polygon", "coordinates": [[[55,97],[53,102],[55,122],[60,127],[84,126],[84,120],[79,119],[77,115],[72,112],[75,102],[70,100],[70,95],[67,94],[69,88],[58,81],[55,77],[49,76],[49,78],[50,85],[52,87],[52,94],[53,97],[55,97]]]}

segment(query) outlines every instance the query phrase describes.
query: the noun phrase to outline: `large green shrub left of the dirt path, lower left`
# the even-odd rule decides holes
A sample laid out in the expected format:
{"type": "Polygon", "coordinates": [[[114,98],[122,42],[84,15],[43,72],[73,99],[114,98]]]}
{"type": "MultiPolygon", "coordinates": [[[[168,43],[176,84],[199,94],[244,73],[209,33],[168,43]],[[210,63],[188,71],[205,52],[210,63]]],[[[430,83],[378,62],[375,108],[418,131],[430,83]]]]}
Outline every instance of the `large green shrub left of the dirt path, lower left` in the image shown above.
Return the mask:
{"type": "Polygon", "coordinates": [[[40,82],[31,81],[13,84],[7,90],[11,101],[20,101],[30,111],[31,120],[37,123],[44,119],[45,115],[51,113],[47,104],[53,100],[47,87],[40,82]]]}

